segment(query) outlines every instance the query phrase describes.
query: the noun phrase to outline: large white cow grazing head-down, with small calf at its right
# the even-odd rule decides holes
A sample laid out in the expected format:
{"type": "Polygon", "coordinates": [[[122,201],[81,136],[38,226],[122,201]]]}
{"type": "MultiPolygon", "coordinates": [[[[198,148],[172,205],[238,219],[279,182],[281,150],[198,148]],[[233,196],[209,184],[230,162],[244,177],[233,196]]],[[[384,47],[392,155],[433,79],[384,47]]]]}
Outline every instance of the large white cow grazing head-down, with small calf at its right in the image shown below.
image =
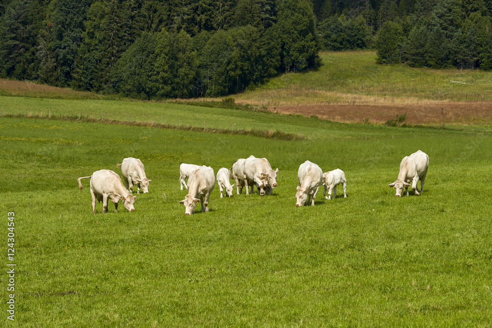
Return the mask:
{"type": "Polygon", "coordinates": [[[299,179],[299,186],[296,192],[296,206],[299,207],[311,202],[311,197],[311,206],[314,206],[314,199],[323,183],[323,171],[316,164],[306,161],[299,166],[297,178],[299,179]]]}

